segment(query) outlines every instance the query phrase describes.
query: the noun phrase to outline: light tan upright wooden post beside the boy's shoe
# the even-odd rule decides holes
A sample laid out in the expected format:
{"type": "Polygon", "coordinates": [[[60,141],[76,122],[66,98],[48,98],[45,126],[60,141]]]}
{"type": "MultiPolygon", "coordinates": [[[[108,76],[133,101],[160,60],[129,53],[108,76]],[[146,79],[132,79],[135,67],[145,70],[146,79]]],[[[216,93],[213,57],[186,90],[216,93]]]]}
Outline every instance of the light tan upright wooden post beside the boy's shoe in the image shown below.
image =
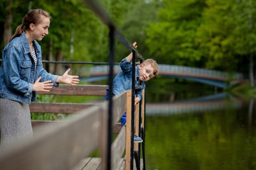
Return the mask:
{"type": "Polygon", "coordinates": [[[132,91],[127,91],[127,123],[126,123],[126,140],[125,140],[125,169],[130,169],[131,157],[131,119],[132,119],[132,91]]]}

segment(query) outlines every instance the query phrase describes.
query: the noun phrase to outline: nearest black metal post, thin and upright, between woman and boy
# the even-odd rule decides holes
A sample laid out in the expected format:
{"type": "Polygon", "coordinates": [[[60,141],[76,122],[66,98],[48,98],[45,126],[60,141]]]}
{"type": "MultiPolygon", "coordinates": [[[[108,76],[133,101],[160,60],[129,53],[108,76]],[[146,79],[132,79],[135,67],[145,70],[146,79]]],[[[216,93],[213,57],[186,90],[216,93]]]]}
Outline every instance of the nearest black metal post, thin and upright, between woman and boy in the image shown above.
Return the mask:
{"type": "Polygon", "coordinates": [[[114,27],[110,26],[110,96],[108,107],[108,125],[107,125],[107,169],[111,169],[111,142],[112,142],[112,91],[114,74],[114,27]]]}

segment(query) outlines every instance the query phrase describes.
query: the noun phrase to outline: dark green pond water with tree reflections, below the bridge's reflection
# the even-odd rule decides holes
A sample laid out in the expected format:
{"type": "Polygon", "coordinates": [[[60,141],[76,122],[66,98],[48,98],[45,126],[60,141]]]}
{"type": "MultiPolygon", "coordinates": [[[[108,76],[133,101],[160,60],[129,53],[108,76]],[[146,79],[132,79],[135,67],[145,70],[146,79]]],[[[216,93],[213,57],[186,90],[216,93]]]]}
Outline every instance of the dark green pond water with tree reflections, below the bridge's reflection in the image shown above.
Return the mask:
{"type": "Polygon", "coordinates": [[[255,107],[228,102],[201,113],[147,115],[146,169],[256,169],[255,107]]]}

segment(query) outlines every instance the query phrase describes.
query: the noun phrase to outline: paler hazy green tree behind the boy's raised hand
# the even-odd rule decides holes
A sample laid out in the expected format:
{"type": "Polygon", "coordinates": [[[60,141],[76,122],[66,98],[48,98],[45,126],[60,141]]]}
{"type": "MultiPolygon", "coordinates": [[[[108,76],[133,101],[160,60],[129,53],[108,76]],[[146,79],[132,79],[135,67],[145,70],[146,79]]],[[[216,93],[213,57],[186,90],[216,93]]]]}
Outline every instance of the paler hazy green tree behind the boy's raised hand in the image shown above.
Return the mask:
{"type": "MultiPolygon", "coordinates": [[[[161,1],[137,1],[130,6],[129,11],[124,15],[120,30],[129,43],[137,42],[137,50],[144,59],[154,58],[149,54],[149,48],[145,45],[146,29],[150,23],[156,21],[156,11],[161,6],[161,1]]],[[[119,62],[128,54],[127,47],[124,47],[121,42],[117,42],[116,61],[119,62]]]]}

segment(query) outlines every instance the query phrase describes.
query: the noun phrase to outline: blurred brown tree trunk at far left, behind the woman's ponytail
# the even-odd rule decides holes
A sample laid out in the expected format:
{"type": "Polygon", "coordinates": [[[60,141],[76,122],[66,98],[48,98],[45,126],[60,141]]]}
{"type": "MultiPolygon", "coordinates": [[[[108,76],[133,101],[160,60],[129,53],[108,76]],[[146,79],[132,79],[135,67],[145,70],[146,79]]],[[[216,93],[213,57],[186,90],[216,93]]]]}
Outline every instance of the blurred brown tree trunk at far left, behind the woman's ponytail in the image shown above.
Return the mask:
{"type": "MultiPolygon", "coordinates": [[[[13,4],[12,0],[6,1],[6,8],[13,4]]],[[[6,21],[4,23],[4,47],[9,43],[11,38],[11,23],[12,23],[11,8],[6,10],[6,21]]]]}

